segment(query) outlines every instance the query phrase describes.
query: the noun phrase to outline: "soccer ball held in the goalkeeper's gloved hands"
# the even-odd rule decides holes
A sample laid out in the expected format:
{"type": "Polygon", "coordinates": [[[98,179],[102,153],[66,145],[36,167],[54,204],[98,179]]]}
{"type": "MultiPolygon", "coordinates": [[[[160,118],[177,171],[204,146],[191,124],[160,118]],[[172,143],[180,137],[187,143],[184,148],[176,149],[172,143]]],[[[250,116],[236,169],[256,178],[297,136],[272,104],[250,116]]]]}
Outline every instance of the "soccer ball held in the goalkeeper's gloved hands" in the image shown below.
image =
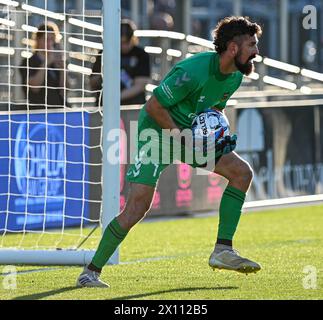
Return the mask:
{"type": "Polygon", "coordinates": [[[192,122],[195,141],[203,142],[203,149],[215,147],[215,143],[230,134],[228,118],[220,111],[206,110],[198,114],[192,122]]]}

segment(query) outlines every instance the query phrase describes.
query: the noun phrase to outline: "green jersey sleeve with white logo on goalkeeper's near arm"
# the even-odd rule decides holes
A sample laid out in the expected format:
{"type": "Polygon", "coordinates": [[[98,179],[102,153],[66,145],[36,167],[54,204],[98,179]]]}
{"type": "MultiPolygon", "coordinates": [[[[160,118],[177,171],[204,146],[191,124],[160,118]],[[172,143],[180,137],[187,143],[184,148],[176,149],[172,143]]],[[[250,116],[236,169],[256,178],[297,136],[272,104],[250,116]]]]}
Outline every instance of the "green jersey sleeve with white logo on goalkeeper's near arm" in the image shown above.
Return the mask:
{"type": "Polygon", "coordinates": [[[153,93],[158,102],[169,109],[184,100],[197,86],[198,83],[190,72],[182,68],[175,68],[159,87],[154,89],[153,93]]]}

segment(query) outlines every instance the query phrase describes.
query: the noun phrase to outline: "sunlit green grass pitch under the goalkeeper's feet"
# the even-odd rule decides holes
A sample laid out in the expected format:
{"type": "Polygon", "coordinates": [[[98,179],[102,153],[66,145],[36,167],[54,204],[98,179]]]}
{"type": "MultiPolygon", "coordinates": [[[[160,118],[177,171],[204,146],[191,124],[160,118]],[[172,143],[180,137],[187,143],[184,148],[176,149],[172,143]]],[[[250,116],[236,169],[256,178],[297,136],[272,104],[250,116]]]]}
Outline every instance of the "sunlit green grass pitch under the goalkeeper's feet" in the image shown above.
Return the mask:
{"type": "Polygon", "coordinates": [[[0,300],[323,299],[323,206],[244,214],[235,247],[263,267],[248,276],[208,266],[217,224],[217,217],[140,223],[121,247],[122,264],[104,269],[109,289],[75,288],[80,267],[28,266],[17,267],[17,289],[5,290],[0,266],[0,300]],[[316,268],[316,282],[306,266],[316,268]],[[20,273],[27,270],[35,272],[20,273]],[[309,276],[316,289],[304,288],[309,276]]]}

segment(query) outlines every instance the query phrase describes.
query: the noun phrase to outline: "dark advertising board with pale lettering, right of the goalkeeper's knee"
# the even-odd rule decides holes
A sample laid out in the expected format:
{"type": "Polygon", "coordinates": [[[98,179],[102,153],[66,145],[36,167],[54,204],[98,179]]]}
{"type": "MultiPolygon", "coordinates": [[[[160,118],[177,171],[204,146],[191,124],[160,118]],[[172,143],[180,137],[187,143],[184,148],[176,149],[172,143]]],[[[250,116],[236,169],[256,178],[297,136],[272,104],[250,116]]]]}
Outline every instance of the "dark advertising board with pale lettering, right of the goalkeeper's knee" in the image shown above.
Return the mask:
{"type": "Polygon", "coordinates": [[[254,169],[248,200],[323,193],[320,107],[238,111],[237,152],[254,169]]]}

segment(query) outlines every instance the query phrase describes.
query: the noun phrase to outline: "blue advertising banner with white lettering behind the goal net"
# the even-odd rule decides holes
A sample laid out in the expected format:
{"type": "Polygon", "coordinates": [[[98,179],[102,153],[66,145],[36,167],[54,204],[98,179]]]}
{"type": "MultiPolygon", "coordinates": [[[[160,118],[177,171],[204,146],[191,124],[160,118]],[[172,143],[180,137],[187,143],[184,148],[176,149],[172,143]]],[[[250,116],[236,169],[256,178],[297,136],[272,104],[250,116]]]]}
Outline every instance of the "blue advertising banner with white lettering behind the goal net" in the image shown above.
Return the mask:
{"type": "Polygon", "coordinates": [[[0,233],[89,217],[89,115],[0,115],[0,233]]]}

